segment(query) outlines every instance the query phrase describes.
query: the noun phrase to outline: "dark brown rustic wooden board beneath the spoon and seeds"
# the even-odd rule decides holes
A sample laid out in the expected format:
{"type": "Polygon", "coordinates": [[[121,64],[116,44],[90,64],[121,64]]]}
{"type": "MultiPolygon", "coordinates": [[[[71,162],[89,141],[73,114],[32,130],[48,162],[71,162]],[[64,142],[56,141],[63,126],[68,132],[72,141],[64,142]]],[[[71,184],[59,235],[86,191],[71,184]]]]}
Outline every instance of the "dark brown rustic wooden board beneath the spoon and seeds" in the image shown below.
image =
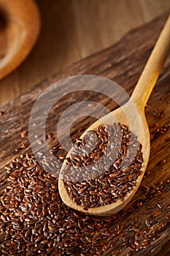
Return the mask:
{"type": "MultiPolygon", "coordinates": [[[[4,167],[11,162],[12,159],[18,157],[21,153],[30,152],[30,146],[28,144],[28,136],[26,138],[20,138],[20,132],[28,130],[28,118],[31,113],[31,108],[34,105],[39,94],[44,91],[47,86],[50,86],[55,81],[66,78],[70,75],[78,74],[92,74],[101,75],[106,78],[115,80],[128,94],[134,89],[136,81],[139,78],[142,68],[146,63],[150,52],[155,44],[155,40],[161,31],[167,15],[163,15],[157,20],[142,26],[139,29],[131,31],[127,34],[120,42],[113,45],[112,47],[96,53],[90,56],[88,59],[84,59],[68,67],[63,72],[58,72],[41,83],[36,85],[31,91],[22,95],[18,99],[14,99],[3,105],[0,108],[0,177],[4,175],[6,170],[4,167]],[[26,148],[20,148],[25,143],[26,148]]],[[[148,214],[144,214],[147,206],[152,206],[152,211],[158,211],[158,199],[150,197],[147,192],[144,192],[142,186],[152,187],[152,185],[158,184],[158,181],[166,181],[170,178],[169,172],[169,121],[170,121],[170,56],[168,57],[166,64],[164,65],[161,76],[152,92],[152,95],[148,101],[146,107],[147,121],[150,127],[151,137],[151,154],[150,161],[147,167],[146,176],[142,181],[142,185],[139,191],[136,193],[132,202],[127,206],[129,211],[128,214],[118,221],[118,224],[126,222],[136,217],[140,221],[140,225],[144,226],[144,219],[148,217],[148,214]],[[144,200],[142,206],[135,208],[134,211],[130,211],[136,200],[141,199],[144,195],[147,195],[147,200],[144,200]]],[[[63,91],[64,88],[58,89],[58,94],[63,91]]],[[[101,97],[97,94],[74,94],[74,97],[69,95],[60,101],[55,110],[50,115],[47,122],[47,131],[53,132],[53,123],[56,123],[58,117],[63,113],[72,103],[80,100],[92,100],[100,102],[106,105],[109,109],[113,110],[116,108],[115,102],[112,102],[107,97],[101,97]]],[[[102,114],[102,113],[101,113],[102,114]]],[[[77,123],[72,129],[73,134],[77,134],[78,129],[82,127],[87,128],[90,123],[93,122],[93,118],[83,118],[81,123],[77,123]]],[[[53,141],[53,145],[58,144],[57,140],[53,141]]],[[[39,146],[41,147],[41,146],[39,146]]],[[[3,188],[2,185],[1,187],[3,188]]],[[[1,191],[3,191],[1,189],[1,191]]],[[[161,209],[161,216],[158,217],[160,222],[169,214],[169,209],[166,205],[170,203],[170,190],[164,189],[161,192],[161,202],[163,208],[161,209]]],[[[150,215],[150,214],[149,214],[150,215]]],[[[170,253],[170,225],[169,223],[161,231],[161,236],[158,240],[152,241],[152,245],[135,252],[135,255],[169,255],[170,253]]],[[[121,255],[125,255],[127,250],[123,247],[121,241],[117,241],[115,249],[122,249],[121,255]]],[[[106,255],[110,255],[108,252],[106,255]]]]}

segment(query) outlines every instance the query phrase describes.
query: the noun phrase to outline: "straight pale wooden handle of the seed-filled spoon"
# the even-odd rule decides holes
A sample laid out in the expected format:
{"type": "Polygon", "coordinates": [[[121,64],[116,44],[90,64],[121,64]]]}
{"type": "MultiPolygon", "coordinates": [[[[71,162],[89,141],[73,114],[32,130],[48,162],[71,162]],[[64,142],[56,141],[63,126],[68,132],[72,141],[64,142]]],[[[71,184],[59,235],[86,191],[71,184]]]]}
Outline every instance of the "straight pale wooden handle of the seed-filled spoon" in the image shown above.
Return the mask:
{"type": "Polygon", "coordinates": [[[170,50],[170,15],[145,65],[131,99],[144,111],[153,87],[170,50]]]}

